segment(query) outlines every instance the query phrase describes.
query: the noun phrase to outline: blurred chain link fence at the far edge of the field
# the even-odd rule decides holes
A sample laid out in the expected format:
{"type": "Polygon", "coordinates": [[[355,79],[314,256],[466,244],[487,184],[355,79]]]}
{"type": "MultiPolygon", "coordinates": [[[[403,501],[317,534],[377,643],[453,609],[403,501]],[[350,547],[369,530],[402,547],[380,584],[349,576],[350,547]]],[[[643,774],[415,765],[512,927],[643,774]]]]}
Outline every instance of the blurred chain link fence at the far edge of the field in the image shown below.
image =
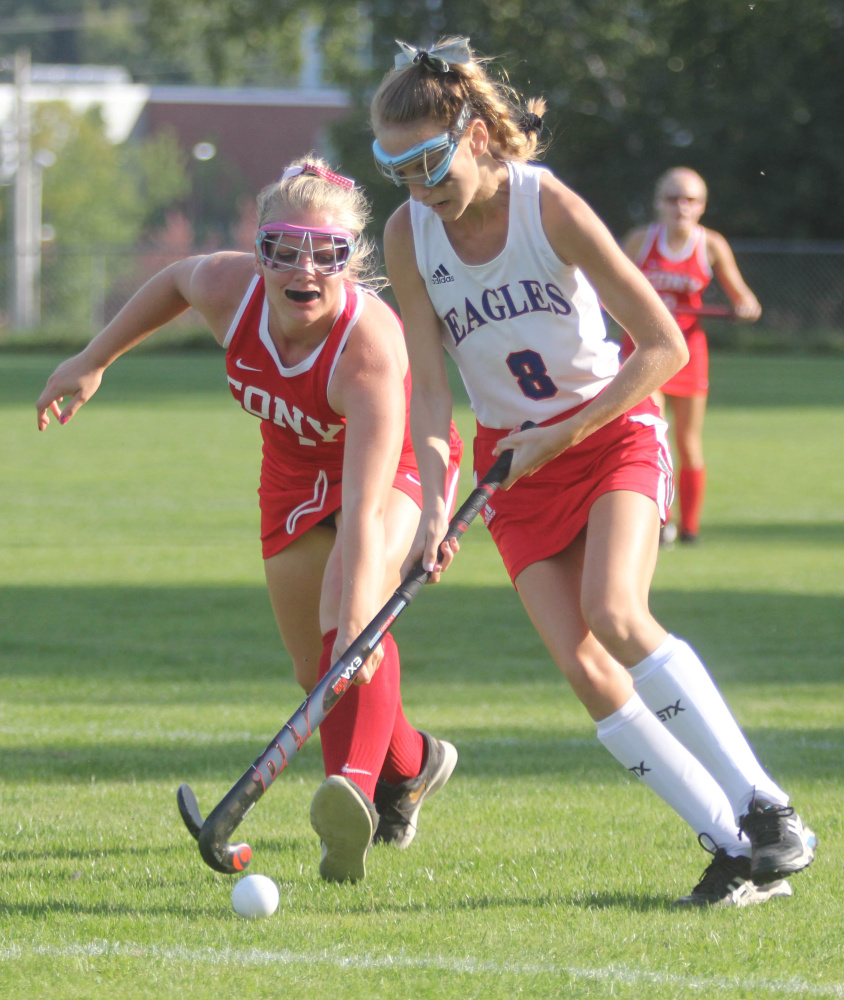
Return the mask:
{"type": "MultiPolygon", "coordinates": [[[[844,242],[736,240],[732,246],[763,315],[756,324],[707,321],[714,347],[844,352],[844,242]]],[[[15,329],[14,254],[0,247],[0,343],[85,343],[145,281],[187,255],[181,248],[45,249],[34,289],[36,320],[22,331],[15,329]]],[[[706,300],[726,303],[714,282],[706,300]]],[[[201,328],[189,310],[156,341],[186,343],[198,339],[201,328]]]]}

